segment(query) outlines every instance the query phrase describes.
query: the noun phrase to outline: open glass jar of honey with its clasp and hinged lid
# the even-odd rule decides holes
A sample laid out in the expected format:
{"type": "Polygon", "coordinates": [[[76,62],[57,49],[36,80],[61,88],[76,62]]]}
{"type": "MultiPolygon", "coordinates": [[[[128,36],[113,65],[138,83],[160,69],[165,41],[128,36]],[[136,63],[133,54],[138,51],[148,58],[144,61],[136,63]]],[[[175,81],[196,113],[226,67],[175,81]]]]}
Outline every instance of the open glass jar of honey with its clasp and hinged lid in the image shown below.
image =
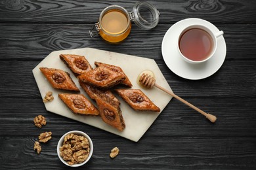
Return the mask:
{"type": "Polygon", "coordinates": [[[98,34],[108,42],[121,42],[131,32],[131,22],[142,29],[152,29],[159,22],[160,12],[148,2],[136,3],[132,12],[118,5],[106,7],[98,22],[89,30],[91,37],[98,34]]]}

